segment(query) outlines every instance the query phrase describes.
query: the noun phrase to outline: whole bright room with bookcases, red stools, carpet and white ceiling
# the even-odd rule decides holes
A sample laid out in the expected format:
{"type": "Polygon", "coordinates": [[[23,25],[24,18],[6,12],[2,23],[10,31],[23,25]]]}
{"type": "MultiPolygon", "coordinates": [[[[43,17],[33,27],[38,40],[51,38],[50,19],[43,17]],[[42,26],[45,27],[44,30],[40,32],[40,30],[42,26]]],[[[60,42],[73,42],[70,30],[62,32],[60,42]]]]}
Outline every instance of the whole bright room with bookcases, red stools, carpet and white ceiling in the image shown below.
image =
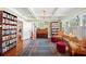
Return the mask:
{"type": "Polygon", "coordinates": [[[0,21],[1,56],[86,55],[86,8],[0,8],[0,21]]]}

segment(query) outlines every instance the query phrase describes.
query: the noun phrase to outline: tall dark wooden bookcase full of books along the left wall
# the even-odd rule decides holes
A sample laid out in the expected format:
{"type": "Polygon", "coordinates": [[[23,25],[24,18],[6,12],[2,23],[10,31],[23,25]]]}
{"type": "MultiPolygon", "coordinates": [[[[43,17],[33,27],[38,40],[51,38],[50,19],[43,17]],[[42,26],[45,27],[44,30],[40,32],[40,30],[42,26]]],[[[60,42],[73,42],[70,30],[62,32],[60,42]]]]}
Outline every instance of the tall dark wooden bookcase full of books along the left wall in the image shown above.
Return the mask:
{"type": "Polygon", "coordinates": [[[16,46],[17,16],[0,11],[0,55],[16,46]]]}

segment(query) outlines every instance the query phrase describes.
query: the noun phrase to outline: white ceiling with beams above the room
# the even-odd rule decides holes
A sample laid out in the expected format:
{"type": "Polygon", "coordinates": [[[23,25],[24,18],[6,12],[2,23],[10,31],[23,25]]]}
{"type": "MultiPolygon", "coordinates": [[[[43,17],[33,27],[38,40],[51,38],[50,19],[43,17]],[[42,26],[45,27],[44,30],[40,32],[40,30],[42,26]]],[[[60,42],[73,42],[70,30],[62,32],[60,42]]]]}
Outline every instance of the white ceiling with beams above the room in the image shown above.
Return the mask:
{"type": "Polygon", "coordinates": [[[13,8],[21,16],[27,21],[54,21],[66,17],[70,12],[79,10],[81,8],[13,8]]]}

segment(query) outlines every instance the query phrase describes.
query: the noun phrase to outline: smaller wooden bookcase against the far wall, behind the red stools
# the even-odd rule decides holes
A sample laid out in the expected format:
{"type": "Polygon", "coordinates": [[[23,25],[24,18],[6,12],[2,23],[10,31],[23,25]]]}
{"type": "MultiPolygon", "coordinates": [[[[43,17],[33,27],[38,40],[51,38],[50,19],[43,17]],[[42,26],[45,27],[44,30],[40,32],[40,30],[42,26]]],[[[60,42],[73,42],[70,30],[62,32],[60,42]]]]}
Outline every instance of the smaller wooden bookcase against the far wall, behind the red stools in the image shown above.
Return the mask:
{"type": "Polygon", "coordinates": [[[61,30],[61,25],[59,22],[51,22],[51,37],[57,37],[58,31],[61,30]]]}

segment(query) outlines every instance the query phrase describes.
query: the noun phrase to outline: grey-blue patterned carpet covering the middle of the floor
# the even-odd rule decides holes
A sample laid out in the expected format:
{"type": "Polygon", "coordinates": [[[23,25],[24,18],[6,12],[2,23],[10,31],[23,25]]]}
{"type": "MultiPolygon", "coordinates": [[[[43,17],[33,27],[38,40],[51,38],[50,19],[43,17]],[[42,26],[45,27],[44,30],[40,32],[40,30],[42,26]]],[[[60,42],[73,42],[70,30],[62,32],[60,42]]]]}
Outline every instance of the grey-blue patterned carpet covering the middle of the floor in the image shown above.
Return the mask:
{"type": "Polygon", "coordinates": [[[57,52],[56,43],[50,42],[48,39],[26,40],[21,56],[69,56],[67,53],[60,54],[57,52]]]}

